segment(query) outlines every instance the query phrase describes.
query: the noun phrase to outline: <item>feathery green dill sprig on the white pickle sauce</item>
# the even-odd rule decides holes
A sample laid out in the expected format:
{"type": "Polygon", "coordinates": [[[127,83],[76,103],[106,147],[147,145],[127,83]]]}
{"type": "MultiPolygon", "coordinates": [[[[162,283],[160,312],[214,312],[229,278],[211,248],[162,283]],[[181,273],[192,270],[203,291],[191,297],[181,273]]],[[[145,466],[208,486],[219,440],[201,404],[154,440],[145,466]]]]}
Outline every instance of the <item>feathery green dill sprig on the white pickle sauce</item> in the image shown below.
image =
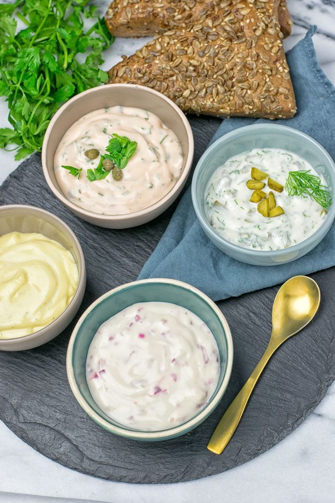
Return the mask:
{"type": "Polygon", "coordinates": [[[310,174],[310,170],[290,171],[285,189],[289,196],[309,196],[324,209],[328,208],[332,202],[330,191],[321,184],[318,176],[310,174]]]}

